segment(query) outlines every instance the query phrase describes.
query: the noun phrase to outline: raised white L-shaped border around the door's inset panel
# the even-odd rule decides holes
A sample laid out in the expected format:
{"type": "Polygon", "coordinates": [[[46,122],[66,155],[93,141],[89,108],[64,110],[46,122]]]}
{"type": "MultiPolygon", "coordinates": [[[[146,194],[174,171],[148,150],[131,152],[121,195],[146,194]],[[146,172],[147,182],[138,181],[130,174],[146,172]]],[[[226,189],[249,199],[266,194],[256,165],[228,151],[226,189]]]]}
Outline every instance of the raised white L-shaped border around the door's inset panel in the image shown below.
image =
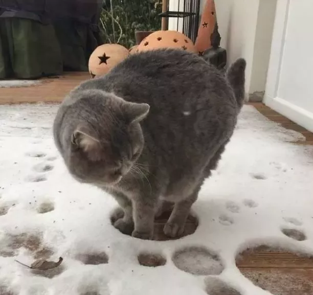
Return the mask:
{"type": "Polygon", "coordinates": [[[290,1],[292,0],[277,1],[271,57],[263,102],[283,116],[313,132],[313,114],[278,97],[290,1]]]}

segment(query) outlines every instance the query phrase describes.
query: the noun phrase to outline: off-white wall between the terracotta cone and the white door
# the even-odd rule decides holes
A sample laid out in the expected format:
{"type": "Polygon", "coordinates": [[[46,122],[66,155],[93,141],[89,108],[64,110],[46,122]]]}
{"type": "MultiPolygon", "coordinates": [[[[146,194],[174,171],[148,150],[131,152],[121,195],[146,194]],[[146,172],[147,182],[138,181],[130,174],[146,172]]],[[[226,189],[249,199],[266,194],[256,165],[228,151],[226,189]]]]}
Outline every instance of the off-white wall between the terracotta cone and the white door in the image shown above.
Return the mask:
{"type": "MultiPolygon", "coordinates": [[[[177,8],[178,0],[169,0],[177,8]]],[[[183,2],[183,1],[181,1],[183,2]]],[[[221,47],[228,63],[238,57],[247,60],[247,94],[264,92],[277,0],[215,0],[221,47]]],[[[206,0],[202,0],[203,10],[206,0]]],[[[176,29],[175,20],[169,22],[176,29]]]]}

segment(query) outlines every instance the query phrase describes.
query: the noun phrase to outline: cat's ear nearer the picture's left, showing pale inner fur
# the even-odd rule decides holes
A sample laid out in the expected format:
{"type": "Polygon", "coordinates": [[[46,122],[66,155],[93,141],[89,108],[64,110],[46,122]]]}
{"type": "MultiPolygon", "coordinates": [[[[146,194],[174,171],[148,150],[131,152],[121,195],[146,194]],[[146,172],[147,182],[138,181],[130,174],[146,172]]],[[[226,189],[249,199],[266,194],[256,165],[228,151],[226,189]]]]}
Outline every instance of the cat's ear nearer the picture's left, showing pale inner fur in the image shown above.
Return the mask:
{"type": "Polygon", "coordinates": [[[78,126],[72,134],[72,143],[91,161],[101,160],[101,144],[97,134],[87,126],[78,126]]]}

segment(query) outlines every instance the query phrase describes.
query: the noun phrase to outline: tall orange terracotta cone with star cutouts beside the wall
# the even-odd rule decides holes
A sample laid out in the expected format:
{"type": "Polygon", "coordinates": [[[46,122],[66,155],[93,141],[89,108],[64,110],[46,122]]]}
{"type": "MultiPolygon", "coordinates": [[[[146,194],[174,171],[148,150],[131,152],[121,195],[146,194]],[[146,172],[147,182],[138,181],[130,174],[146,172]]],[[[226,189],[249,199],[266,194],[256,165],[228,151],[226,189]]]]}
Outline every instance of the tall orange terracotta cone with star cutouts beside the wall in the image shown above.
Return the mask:
{"type": "Polygon", "coordinates": [[[207,0],[199,25],[198,36],[194,43],[199,55],[202,55],[206,50],[212,47],[211,35],[216,25],[217,19],[214,0],[207,0]]]}

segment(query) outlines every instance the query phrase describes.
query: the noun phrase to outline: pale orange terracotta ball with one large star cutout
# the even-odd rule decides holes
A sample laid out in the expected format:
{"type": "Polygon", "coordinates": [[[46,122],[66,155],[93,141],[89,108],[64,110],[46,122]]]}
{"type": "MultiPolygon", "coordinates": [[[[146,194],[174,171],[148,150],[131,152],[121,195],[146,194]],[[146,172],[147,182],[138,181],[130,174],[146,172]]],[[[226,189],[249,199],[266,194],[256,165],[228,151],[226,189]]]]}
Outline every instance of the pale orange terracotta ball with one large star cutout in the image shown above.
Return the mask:
{"type": "Polygon", "coordinates": [[[119,44],[100,45],[89,58],[89,72],[92,77],[104,75],[127,56],[129,51],[119,44]]]}

